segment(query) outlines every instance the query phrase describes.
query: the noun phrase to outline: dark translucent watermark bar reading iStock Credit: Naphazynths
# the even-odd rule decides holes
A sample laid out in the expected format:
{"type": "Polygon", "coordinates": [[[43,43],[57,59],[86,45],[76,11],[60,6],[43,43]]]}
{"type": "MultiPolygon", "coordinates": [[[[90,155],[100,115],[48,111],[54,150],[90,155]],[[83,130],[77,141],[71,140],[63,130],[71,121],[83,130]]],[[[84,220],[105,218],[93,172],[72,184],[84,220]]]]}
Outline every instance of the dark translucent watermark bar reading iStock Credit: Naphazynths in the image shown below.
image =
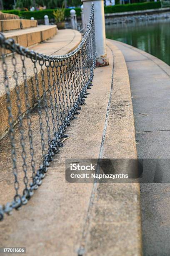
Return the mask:
{"type": "Polygon", "coordinates": [[[65,180],[71,183],[167,183],[170,159],[66,159],[65,180]]]}

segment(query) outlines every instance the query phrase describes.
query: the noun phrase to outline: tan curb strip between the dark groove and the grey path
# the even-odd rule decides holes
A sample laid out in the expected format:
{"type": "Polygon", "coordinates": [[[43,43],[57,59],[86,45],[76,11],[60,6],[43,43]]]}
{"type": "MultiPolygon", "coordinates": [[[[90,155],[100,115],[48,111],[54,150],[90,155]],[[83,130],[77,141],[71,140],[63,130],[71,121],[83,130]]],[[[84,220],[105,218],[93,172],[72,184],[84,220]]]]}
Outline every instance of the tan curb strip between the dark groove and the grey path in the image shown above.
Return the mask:
{"type": "MultiPolygon", "coordinates": [[[[107,40],[107,46],[113,53],[114,74],[107,108],[103,158],[135,159],[137,151],[128,70],[123,54],[113,41],[107,40]]],[[[85,255],[142,255],[140,185],[99,183],[93,196],[95,199],[85,255]]]]}

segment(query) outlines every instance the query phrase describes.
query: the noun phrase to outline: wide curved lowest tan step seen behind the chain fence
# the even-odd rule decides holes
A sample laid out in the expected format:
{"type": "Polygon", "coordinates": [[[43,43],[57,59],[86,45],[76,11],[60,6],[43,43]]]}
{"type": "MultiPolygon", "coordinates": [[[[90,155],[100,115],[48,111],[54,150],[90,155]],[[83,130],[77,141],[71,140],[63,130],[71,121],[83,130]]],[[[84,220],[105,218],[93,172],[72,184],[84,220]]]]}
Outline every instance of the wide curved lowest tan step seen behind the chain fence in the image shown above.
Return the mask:
{"type": "MultiPolygon", "coordinates": [[[[56,26],[41,26],[43,28],[51,27],[52,33],[53,31],[56,31],[56,26]]],[[[39,26],[38,26],[39,28],[39,26]]],[[[35,28],[34,28],[35,29],[35,28]]],[[[23,31],[21,31],[23,32],[23,31]]],[[[51,33],[49,31],[45,31],[45,33],[51,33]]],[[[10,33],[10,32],[8,32],[10,33]]],[[[37,33],[37,32],[35,32],[37,33]]],[[[30,34],[32,36],[32,34],[30,34]]],[[[46,34],[44,34],[46,36],[46,34]]],[[[47,34],[48,36],[48,34],[47,34]]],[[[34,36],[36,39],[36,34],[34,36]]],[[[65,30],[59,30],[57,32],[57,35],[55,35],[53,38],[51,38],[48,41],[45,41],[41,44],[38,44],[36,46],[30,47],[30,49],[37,51],[42,54],[47,55],[61,55],[66,54],[73,49],[77,47],[77,45],[81,41],[81,34],[78,31],[72,30],[72,29],[65,29],[65,30]],[[69,39],[68,39],[69,38],[69,39]]],[[[22,42],[21,42],[21,45],[22,42]]],[[[25,106],[25,96],[24,96],[24,83],[23,83],[23,73],[22,73],[22,61],[20,59],[19,54],[15,54],[16,60],[17,60],[17,72],[18,72],[18,84],[20,86],[20,93],[21,93],[21,108],[22,113],[25,113],[26,106],[25,106]]],[[[11,101],[12,101],[12,112],[14,116],[14,120],[16,121],[18,118],[17,113],[17,102],[16,102],[16,93],[15,93],[15,79],[14,79],[14,69],[13,65],[11,63],[11,56],[7,56],[5,58],[7,63],[7,75],[9,77],[9,87],[10,87],[10,95],[11,95],[11,101]]],[[[1,61],[0,61],[1,62],[1,61]]],[[[0,63],[1,65],[1,63],[0,63]]],[[[28,90],[29,90],[29,100],[30,105],[34,105],[37,101],[36,98],[36,87],[35,87],[35,74],[33,72],[33,63],[30,58],[25,58],[25,67],[27,69],[27,84],[28,84],[28,90]]],[[[46,71],[46,67],[43,66],[44,71],[46,71]]],[[[40,72],[40,65],[37,64],[37,71],[40,72]]],[[[40,76],[40,74],[38,74],[40,76]]],[[[8,116],[7,116],[7,108],[6,108],[6,100],[5,100],[5,88],[4,88],[4,73],[2,69],[0,69],[0,138],[2,138],[8,129],[8,116]]],[[[52,79],[52,78],[51,78],[52,79]]],[[[45,86],[47,88],[47,76],[45,76],[45,86]]],[[[40,90],[40,96],[42,95],[42,88],[40,90]]]]}

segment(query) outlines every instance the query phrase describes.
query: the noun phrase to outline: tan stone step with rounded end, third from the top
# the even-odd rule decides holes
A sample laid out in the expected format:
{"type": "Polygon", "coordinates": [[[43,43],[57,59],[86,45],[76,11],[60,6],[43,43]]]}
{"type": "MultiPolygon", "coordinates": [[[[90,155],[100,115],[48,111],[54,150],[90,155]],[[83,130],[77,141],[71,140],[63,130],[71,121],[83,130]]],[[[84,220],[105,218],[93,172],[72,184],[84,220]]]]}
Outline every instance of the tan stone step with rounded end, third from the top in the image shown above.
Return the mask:
{"type": "MultiPolygon", "coordinates": [[[[16,43],[28,47],[34,44],[39,44],[49,38],[52,38],[57,33],[56,25],[40,25],[34,28],[17,29],[7,31],[4,34],[5,38],[13,38],[16,43]]],[[[10,53],[9,50],[5,54],[10,53]]]]}

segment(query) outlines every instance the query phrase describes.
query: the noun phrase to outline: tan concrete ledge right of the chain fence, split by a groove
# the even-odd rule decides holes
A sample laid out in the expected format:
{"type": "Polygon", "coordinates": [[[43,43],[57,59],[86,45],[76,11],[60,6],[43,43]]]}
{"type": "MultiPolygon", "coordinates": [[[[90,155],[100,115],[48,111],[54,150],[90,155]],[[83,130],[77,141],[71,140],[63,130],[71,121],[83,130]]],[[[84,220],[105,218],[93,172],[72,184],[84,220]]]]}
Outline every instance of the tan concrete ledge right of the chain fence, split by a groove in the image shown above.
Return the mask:
{"type": "MultiPolygon", "coordinates": [[[[95,69],[87,105],[82,106],[77,120],[72,120],[67,129],[69,139],[51,163],[41,187],[28,205],[0,223],[1,247],[25,246],[28,256],[141,255],[138,183],[65,182],[66,158],[136,158],[128,70],[121,51],[109,42],[107,55],[110,65],[95,69]]],[[[36,111],[31,112],[31,118],[37,162],[41,149],[36,111]]],[[[45,111],[43,115],[45,118],[45,111]]],[[[17,127],[15,133],[18,138],[17,127]]],[[[1,161],[7,159],[8,147],[6,136],[1,141],[1,161]]],[[[9,162],[5,161],[7,170],[9,162]]],[[[5,200],[13,192],[9,191],[12,185],[6,186],[1,186],[5,200]]]]}

